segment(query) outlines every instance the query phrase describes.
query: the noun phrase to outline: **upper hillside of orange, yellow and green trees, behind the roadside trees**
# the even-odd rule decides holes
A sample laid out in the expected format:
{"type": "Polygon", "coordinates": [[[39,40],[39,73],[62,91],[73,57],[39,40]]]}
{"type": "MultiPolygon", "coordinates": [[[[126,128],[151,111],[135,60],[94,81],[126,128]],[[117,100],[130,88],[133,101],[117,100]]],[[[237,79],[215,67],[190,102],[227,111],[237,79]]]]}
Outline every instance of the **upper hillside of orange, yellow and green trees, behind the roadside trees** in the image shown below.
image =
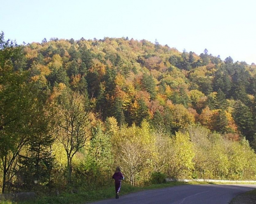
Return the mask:
{"type": "Polygon", "coordinates": [[[22,50],[22,69],[38,88],[52,91],[62,83],[88,92],[103,120],[140,125],[146,119],[172,133],[201,123],[254,144],[255,65],[128,38],[43,40],[22,50]]]}

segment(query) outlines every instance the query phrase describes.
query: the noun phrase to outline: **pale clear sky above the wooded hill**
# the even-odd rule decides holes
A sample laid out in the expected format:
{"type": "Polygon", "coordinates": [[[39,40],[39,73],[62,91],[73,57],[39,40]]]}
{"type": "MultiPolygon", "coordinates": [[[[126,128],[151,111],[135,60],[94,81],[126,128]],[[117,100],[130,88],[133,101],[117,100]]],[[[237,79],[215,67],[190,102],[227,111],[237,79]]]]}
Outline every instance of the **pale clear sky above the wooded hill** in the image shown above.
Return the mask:
{"type": "Polygon", "coordinates": [[[256,63],[255,0],[0,0],[0,31],[44,38],[129,39],[256,63]]]}

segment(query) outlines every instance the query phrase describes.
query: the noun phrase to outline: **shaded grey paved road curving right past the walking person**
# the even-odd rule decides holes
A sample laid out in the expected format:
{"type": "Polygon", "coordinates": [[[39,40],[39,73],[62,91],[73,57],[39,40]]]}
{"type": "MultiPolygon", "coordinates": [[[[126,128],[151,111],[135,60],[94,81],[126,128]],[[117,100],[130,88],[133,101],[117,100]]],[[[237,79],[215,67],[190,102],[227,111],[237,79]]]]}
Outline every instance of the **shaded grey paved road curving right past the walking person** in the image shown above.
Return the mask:
{"type": "Polygon", "coordinates": [[[254,188],[256,185],[179,185],[121,195],[119,199],[93,204],[228,204],[233,197],[254,188]]]}

